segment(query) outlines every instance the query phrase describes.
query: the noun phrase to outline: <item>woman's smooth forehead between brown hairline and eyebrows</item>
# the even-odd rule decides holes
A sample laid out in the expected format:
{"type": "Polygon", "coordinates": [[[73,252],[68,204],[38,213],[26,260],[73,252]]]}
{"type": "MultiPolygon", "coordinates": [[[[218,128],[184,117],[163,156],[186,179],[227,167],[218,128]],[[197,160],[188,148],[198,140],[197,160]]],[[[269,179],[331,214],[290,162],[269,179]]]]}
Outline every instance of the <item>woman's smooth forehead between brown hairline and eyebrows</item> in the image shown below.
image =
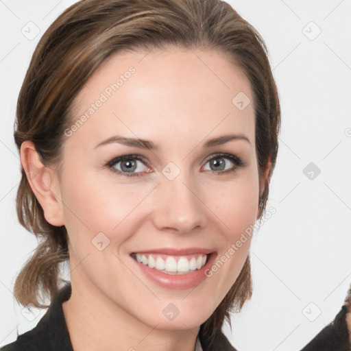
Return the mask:
{"type": "Polygon", "coordinates": [[[124,51],[108,58],[75,98],[72,122],[86,118],[74,136],[93,143],[120,132],[148,138],[189,137],[194,130],[199,138],[211,130],[252,134],[252,102],[249,80],[218,51],[124,51]]]}

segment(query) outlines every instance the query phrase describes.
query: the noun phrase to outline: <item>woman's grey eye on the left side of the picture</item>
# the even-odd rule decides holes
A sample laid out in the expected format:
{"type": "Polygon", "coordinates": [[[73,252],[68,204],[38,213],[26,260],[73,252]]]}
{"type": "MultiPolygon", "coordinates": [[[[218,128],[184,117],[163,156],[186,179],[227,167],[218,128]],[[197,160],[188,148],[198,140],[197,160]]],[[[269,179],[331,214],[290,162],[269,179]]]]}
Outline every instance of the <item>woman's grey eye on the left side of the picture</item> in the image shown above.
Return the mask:
{"type": "Polygon", "coordinates": [[[150,171],[149,167],[143,167],[143,164],[147,165],[147,161],[143,157],[138,155],[125,155],[110,160],[106,166],[120,175],[138,177],[140,173],[149,173],[150,171]]]}

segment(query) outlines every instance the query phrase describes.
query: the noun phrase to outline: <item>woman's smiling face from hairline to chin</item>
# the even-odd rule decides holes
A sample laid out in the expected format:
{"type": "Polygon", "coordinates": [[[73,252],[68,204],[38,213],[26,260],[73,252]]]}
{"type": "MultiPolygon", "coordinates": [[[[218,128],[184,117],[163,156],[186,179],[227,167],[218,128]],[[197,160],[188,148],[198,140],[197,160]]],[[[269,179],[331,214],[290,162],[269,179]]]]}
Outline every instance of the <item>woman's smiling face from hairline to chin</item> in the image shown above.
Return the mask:
{"type": "Polygon", "coordinates": [[[198,327],[237,279],[258,215],[247,77],[216,51],[124,52],[73,107],[60,175],[73,289],[152,327],[198,327]]]}

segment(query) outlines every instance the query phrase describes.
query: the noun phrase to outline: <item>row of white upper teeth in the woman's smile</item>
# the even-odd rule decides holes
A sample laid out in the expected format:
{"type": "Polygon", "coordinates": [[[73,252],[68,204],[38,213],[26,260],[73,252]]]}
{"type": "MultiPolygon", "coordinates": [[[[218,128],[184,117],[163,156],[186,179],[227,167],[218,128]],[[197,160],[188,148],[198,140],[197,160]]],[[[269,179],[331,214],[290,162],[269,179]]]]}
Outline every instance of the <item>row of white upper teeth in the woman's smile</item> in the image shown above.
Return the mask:
{"type": "Polygon", "coordinates": [[[188,256],[188,258],[181,256],[178,261],[173,256],[162,255],[164,258],[160,257],[159,254],[134,254],[133,257],[138,261],[138,263],[143,263],[143,265],[149,266],[149,268],[158,269],[159,271],[165,271],[169,273],[182,272],[186,273],[189,271],[194,271],[195,269],[200,269],[204,267],[207,259],[206,254],[199,254],[188,256]]]}

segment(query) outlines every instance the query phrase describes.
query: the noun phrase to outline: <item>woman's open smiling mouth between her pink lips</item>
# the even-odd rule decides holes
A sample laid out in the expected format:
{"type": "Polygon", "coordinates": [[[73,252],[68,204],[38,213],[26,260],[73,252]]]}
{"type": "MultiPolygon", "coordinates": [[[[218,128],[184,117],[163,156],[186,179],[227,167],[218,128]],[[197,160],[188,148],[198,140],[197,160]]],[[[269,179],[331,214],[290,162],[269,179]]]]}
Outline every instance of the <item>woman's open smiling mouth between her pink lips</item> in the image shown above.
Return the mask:
{"type": "Polygon", "coordinates": [[[182,275],[191,274],[194,271],[202,269],[202,267],[208,262],[210,254],[195,253],[170,255],[157,252],[140,252],[132,253],[130,256],[132,256],[132,258],[138,263],[151,269],[156,269],[164,274],[182,275]]]}

